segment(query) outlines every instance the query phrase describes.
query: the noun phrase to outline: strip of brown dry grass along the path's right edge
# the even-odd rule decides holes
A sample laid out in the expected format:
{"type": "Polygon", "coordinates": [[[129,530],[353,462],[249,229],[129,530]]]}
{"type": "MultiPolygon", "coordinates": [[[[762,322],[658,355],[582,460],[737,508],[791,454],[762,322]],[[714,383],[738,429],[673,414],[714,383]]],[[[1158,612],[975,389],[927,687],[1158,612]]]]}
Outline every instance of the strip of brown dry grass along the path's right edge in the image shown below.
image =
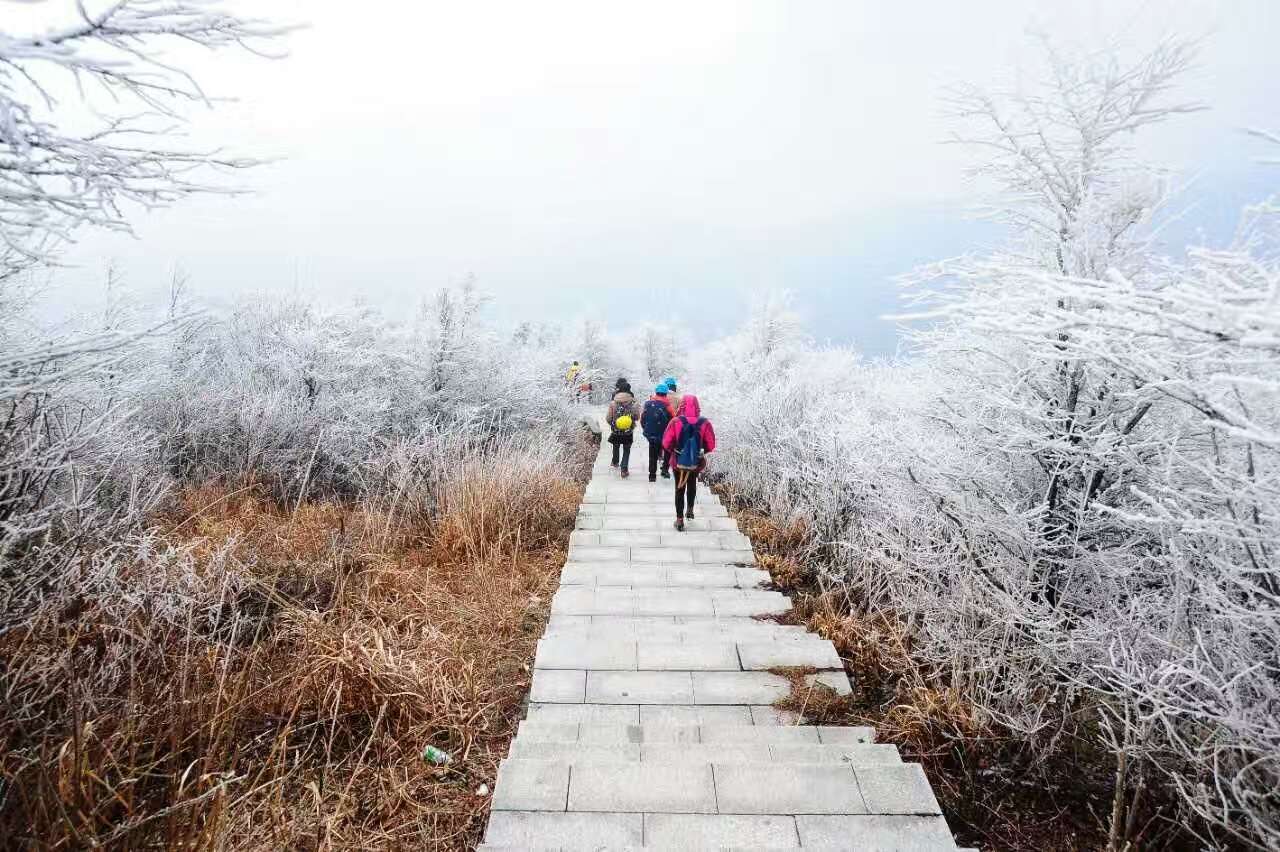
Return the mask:
{"type": "MultiPolygon", "coordinates": [[[[824,572],[803,522],[780,522],[723,476],[713,478],[769,572],[771,587],[792,601],[788,613],[771,618],[831,640],[852,686],[851,695],[841,696],[806,683],[805,669],[780,669],[791,682],[791,693],[774,702],[780,711],[795,724],[870,727],[877,742],[922,764],[960,846],[992,852],[1106,848],[1111,815],[1098,807],[1112,797],[1110,755],[1083,737],[1064,736],[1052,750],[1028,747],[1021,734],[969,704],[950,684],[951,673],[913,658],[909,624],[891,611],[872,611],[824,572]]],[[[1132,815],[1130,848],[1202,848],[1185,826],[1161,820],[1175,811],[1167,793],[1152,791],[1132,815]]]]}

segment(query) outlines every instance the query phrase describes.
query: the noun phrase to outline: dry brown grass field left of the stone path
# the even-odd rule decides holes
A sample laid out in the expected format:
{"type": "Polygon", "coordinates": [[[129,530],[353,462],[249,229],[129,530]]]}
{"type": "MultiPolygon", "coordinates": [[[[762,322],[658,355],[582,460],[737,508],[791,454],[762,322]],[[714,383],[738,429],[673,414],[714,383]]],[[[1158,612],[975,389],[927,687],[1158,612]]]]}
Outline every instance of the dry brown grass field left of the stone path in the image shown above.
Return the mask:
{"type": "Polygon", "coordinates": [[[5,638],[4,846],[472,846],[581,485],[461,473],[407,526],[182,494],[163,537],[223,590],[212,605],[174,623],[77,600],[5,638]],[[426,765],[429,743],[452,764],[426,765]]]}

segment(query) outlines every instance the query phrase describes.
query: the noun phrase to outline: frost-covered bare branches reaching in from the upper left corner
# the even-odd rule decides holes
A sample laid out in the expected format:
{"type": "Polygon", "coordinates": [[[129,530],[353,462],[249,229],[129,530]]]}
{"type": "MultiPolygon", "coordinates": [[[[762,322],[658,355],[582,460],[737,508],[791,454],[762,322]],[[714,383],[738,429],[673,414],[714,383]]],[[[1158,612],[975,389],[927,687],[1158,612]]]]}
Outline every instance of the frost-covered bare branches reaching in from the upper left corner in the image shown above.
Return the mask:
{"type": "Polygon", "coordinates": [[[173,142],[210,104],[168,49],[260,50],[283,31],[216,0],[38,4],[0,22],[0,278],[52,260],[82,225],[128,232],[127,207],[216,191],[209,166],[251,160],[173,142]]]}

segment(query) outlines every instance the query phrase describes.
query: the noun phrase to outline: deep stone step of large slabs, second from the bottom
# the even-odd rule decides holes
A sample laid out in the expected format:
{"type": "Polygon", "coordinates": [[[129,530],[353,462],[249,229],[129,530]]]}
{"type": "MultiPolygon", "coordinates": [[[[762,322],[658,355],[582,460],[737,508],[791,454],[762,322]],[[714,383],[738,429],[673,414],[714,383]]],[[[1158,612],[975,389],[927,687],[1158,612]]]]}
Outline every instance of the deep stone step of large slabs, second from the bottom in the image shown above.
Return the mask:
{"type": "Polygon", "coordinates": [[[663,764],[508,757],[494,811],[941,814],[918,764],[663,764]]]}

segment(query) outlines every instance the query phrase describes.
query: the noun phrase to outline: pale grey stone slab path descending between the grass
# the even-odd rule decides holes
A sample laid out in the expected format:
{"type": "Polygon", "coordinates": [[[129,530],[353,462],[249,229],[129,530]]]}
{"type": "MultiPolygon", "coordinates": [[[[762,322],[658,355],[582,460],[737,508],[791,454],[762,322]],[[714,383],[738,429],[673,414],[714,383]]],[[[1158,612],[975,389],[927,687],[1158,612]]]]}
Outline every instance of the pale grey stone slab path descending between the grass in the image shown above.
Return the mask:
{"type": "Polygon", "coordinates": [[[771,706],[771,668],[849,679],[831,642],[753,618],[790,603],[709,489],[695,514],[672,528],[671,481],[620,478],[602,444],[480,848],[955,851],[895,746],[771,706]]]}

